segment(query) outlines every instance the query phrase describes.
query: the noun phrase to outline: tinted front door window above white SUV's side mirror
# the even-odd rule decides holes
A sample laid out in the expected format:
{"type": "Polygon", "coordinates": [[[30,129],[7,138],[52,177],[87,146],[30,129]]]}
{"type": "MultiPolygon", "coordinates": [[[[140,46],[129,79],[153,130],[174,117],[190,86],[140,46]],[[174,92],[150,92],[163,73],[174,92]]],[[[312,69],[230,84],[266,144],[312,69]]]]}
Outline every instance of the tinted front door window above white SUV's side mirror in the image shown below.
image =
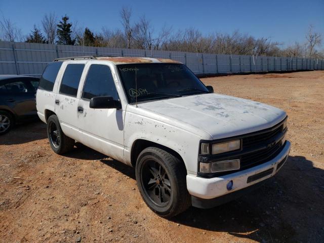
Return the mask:
{"type": "Polygon", "coordinates": [[[111,70],[106,65],[93,64],[89,68],[82,98],[90,100],[95,96],[112,96],[114,100],[119,99],[111,70]]]}

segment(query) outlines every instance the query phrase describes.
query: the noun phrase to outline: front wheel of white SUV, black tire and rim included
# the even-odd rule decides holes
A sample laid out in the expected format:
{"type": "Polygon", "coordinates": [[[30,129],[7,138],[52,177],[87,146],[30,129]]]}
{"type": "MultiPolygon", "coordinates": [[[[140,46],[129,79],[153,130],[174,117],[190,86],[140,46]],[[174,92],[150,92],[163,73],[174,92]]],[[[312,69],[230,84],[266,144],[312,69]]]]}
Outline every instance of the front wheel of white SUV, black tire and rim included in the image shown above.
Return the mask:
{"type": "Polygon", "coordinates": [[[136,181],[146,205],[161,217],[174,217],[191,205],[183,161],[163,149],[148,147],[139,154],[136,181]]]}

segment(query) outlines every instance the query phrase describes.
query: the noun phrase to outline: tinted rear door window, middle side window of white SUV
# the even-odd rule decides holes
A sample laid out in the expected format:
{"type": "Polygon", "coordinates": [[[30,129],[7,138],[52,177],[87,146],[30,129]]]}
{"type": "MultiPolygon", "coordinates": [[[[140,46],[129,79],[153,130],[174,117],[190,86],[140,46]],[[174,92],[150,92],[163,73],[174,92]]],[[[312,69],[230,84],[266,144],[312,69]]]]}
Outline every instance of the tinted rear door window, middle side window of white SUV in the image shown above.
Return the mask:
{"type": "Polygon", "coordinates": [[[68,64],[62,78],[60,94],[76,97],[84,64],[68,64]]]}

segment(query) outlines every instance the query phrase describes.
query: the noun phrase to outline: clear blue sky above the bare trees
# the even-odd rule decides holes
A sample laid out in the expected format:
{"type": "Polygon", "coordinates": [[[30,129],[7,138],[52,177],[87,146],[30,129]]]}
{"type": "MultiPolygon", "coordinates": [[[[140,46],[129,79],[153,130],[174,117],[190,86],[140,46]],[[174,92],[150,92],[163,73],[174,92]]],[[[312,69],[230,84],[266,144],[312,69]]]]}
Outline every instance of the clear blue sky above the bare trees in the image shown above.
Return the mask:
{"type": "MultiPolygon", "coordinates": [[[[256,37],[271,37],[284,46],[304,42],[308,25],[324,38],[324,0],[223,0],[223,1],[16,1],[0,0],[0,16],[10,18],[24,33],[41,27],[45,13],[67,14],[79,27],[94,32],[102,26],[121,28],[122,6],[133,10],[133,20],[145,14],[157,30],[164,24],[174,30],[195,27],[203,33],[239,30],[256,37]]],[[[324,46],[324,44],[323,44],[324,46]]]]}

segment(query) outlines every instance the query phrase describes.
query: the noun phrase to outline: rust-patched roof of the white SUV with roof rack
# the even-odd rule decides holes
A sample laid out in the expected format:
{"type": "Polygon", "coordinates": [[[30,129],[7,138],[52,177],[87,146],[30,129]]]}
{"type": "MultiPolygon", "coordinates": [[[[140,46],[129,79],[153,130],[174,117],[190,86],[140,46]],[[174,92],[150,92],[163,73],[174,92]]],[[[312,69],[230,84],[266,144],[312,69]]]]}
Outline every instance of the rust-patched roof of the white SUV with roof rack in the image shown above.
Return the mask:
{"type": "Polygon", "coordinates": [[[149,58],[149,57],[111,57],[111,56],[79,56],[79,57],[64,57],[57,58],[54,61],[68,61],[68,60],[102,60],[110,61],[114,64],[129,64],[129,63],[181,63],[172,59],[163,58],[149,58]]]}

